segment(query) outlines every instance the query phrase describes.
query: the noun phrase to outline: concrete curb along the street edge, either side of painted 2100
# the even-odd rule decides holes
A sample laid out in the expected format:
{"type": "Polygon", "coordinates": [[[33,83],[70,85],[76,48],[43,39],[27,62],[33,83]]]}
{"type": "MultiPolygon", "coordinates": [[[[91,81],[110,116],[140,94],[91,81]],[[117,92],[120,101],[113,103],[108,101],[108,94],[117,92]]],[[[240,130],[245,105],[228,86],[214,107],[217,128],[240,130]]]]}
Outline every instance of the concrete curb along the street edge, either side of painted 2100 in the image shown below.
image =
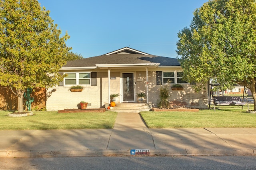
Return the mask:
{"type": "MultiPolygon", "coordinates": [[[[254,149],[150,149],[151,156],[192,155],[256,155],[254,149]]],[[[8,150],[0,151],[0,157],[76,157],[76,156],[134,156],[130,149],[119,150],[8,150]]],[[[140,155],[143,156],[143,155],[140,155]]],[[[148,155],[144,155],[148,156],[148,155]]]]}

